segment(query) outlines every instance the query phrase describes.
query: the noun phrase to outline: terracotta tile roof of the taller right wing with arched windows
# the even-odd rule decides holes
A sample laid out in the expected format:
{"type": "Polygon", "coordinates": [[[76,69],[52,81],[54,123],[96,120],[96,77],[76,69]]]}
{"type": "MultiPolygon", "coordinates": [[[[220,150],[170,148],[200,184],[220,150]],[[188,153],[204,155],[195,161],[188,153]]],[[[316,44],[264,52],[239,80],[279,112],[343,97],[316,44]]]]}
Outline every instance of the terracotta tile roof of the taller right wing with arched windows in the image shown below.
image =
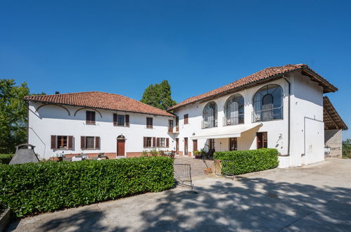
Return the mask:
{"type": "Polygon", "coordinates": [[[188,105],[190,103],[195,103],[197,101],[205,101],[209,98],[215,98],[217,96],[221,96],[223,94],[226,94],[227,92],[231,92],[231,91],[234,91],[236,89],[240,89],[243,86],[249,86],[250,84],[257,84],[257,83],[262,82],[264,80],[272,79],[272,78],[276,78],[276,77],[281,77],[283,74],[287,74],[288,72],[295,72],[298,70],[301,70],[302,72],[304,72],[304,75],[308,75],[315,82],[319,82],[319,84],[324,86],[324,93],[334,92],[334,91],[338,90],[335,86],[330,84],[326,79],[324,79],[323,77],[318,75],[317,72],[314,72],[314,70],[310,69],[305,64],[284,65],[284,66],[279,66],[279,67],[267,67],[264,70],[261,70],[259,72],[255,72],[252,75],[238,79],[235,82],[232,82],[230,84],[226,84],[225,86],[219,87],[219,88],[214,89],[212,91],[209,91],[205,94],[200,94],[198,96],[193,96],[191,98],[187,98],[185,101],[182,101],[181,103],[178,103],[177,105],[174,105],[172,108],[170,108],[168,110],[174,110],[175,108],[179,108],[183,105],[188,105]]]}

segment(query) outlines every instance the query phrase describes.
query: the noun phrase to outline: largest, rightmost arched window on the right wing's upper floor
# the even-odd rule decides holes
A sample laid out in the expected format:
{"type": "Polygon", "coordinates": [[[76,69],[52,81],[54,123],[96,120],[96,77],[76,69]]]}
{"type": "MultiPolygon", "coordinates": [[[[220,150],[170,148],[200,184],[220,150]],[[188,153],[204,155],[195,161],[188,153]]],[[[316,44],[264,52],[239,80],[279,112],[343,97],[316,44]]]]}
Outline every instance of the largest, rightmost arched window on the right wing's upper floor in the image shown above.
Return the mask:
{"type": "Polygon", "coordinates": [[[268,84],[253,97],[253,122],[283,119],[283,89],[278,84],[268,84]]]}

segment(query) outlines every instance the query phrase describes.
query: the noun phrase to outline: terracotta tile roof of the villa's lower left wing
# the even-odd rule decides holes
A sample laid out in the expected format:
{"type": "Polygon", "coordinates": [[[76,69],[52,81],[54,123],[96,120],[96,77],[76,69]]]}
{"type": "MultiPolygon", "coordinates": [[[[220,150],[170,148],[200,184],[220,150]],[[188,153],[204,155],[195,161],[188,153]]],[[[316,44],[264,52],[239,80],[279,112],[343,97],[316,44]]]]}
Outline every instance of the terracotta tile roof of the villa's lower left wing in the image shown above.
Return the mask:
{"type": "Polygon", "coordinates": [[[174,117],[174,115],[165,110],[160,110],[151,105],[146,105],[132,98],[127,98],[126,96],[119,94],[108,94],[99,91],[26,96],[25,100],[174,117]]]}

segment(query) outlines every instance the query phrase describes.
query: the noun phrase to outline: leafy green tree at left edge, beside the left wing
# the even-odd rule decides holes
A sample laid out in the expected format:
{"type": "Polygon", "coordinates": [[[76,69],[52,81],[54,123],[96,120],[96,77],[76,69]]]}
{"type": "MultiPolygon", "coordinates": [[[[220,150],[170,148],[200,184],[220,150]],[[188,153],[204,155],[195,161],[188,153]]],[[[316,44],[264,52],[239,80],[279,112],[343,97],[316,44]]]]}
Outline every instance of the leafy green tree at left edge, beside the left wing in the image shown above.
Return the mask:
{"type": "Polygon", "coordinates": [[[27,141],[27,83],[15,86],[13,79],[0,79],[0,153],[13,153],[27,141]]]}

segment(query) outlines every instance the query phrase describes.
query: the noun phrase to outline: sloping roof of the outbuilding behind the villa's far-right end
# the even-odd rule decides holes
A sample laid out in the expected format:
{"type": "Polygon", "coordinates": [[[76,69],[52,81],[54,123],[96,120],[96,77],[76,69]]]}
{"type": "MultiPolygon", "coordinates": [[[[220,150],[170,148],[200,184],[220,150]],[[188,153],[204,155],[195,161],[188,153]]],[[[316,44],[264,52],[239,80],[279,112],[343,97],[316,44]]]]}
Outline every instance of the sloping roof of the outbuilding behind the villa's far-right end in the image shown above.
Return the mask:
{"type": "Polygon", "coordinates": [[[323,121],[324,129],[348,129],[327,96],[323,98],[323,121]]]}

